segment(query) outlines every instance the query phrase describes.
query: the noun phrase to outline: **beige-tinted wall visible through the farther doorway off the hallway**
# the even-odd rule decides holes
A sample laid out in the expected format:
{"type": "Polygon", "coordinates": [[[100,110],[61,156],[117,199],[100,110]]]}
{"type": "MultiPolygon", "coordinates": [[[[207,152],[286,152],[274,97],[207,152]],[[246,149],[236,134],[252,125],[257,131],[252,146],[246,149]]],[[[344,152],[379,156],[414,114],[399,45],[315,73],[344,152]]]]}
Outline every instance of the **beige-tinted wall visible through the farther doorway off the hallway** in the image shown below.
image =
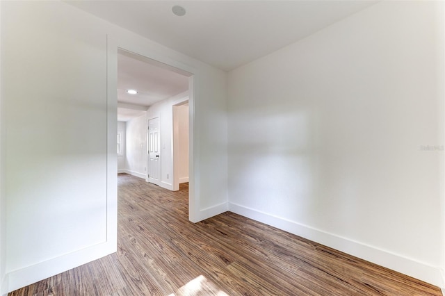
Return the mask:
{"type": "Polygon", "coordinates": [[[178,120],[179,183],[188,182],[188,104],[175,107],[178,120]]]}

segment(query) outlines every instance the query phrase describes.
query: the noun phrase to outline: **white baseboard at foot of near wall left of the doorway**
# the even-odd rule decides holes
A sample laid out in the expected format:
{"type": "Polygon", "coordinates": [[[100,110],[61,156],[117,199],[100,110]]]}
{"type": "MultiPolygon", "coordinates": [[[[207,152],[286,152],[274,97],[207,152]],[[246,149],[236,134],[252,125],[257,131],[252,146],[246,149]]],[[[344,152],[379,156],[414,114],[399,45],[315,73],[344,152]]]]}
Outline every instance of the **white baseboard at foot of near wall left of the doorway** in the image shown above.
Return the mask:
{"type": "MultiPolygon", "coordinates": [[[[94,245],[81,249],[70,254],[58,256],[35,265],[31,265],[20,270],[8,272],[9,277],[8,291],[12,292],[24,286],[29,286],[31,283],[36,283],[42,279],[47,279],[61,272],[71,270],[77,266],[95,261],[108,254],[113,254],[117,251],[116,245],[111,242],[104,242],[99,245],[94,245]]],[[[3,285],[2,285],[3,286],[3,285]]]]}

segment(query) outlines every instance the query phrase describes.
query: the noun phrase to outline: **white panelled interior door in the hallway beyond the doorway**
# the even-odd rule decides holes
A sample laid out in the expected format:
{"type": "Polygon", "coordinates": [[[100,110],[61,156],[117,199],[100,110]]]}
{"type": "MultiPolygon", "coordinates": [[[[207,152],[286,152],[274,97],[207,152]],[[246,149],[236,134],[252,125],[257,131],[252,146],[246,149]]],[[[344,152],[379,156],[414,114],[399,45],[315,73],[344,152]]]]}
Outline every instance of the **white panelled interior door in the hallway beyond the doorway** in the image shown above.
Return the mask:
{"type": "Polygon", "coordinates": [[[161,154],[159,149],[159,117],[148,121],[148,181],[159,185],[161,154]]]}

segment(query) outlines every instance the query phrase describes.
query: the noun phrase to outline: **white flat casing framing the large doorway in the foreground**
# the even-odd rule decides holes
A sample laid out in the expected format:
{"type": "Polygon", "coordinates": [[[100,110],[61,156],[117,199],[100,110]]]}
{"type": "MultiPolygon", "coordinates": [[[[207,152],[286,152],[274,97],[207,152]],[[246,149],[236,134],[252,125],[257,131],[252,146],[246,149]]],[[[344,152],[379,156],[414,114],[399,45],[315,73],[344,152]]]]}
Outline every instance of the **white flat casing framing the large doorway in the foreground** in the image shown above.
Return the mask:
{"type": "MultiPolygon", "coordinates": [[[[156,65],[159,65],[161,67],[164,67],[165,69],[170,69],[173,72],[177,72],[179,74],[182,74],[184,76],[188,76],[188,105],[189,105],[189,116],[188,116],[188,122],[189,122],[189,129],[188,129],[188,135],[189,135],[189,191],[188,191],[188,220],[191,222],[197,222],[198,219],[198,205],[199,205],[199,170],[198,166],[196,165],[198,163],[197,155],[197,147],[198,145],[195,145],[197,143],[197,133],[195,133],[195,110],[197,106],[197,101],[199,100],[197,97],[197,89],[198,89],[198,81],[199,81],[199,75],[197,73],[197,69],[184,65],[183,63],[172,60],[168,56],[164,56],[163,54],[160,54],[159,51],[152,51],[148,48],[141,47],[140,44],[136,42],[131,42],[131,40],[118,40],[118,38],[114,38],[113,36],[108,35],[107,36],[107,92],[108,92],[108,127],[107,127],[107,134],[108,134],[108,146],[115,147],[115,144],[111,145],[110,143],[115,140],[115,133],[117,130],[117,120],[115,120],[116,116],[116,110],[117,110],[117,104],[118,104],[118,98],[115,94],[117,89],[117,80],[118,80],[118,50],[120,51],[128,51],[131,54],[134,54],[136,56],[140,56],[142,58],[146,58],[149,60],[152,60],[156,65]],[[113,123],[113,120],[115,121],[113,123]]],[[[112,151],[108,151],[108,153],[113,153],[112,151]]],[[[115,153],[115,151],[114,151],[115,153]]],[[[107,179],[111,180],[111,182],[108,182],[110,188],[115,187],[115,184],[117,184],[117,178],[115,176],[115,171],[108,170],[107,171],[107,179]],[[113,185],[113,180],[116,180],[113,185]]],[[[109,204],[114,205],[111,208],[111,213],[113,211],[113,217],[112,219],[108,220],[108,227],[111,229],[111,232],[117,233],[117,207],[115,204],[117,204],[117,190],[112,189],[116,192],[115,195],[111,195],[111,200],[109,204]],[[113,197],[114,196],[114,197],[113,197]]],[[[115,234],[113,234],[115,236],[115,234]]],[[[116,239],[117,242],[117,239],[116,239]]]]}

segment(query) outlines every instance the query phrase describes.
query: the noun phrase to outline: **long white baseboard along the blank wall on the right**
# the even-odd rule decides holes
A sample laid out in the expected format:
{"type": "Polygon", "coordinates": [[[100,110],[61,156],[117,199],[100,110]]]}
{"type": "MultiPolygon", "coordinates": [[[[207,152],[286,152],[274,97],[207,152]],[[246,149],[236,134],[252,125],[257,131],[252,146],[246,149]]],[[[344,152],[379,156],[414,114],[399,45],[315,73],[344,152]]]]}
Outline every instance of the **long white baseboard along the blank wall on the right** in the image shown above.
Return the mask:
{"type": "Polygon", "coordinates": [[[435,286],[444,287],[442,271],[439,267],[431,266],[412,258],[387,252],[386,250],[378,249],[363,244],[362,242],[343,238],[334,233],[328,233],[320,229],[315,229],[298,222],[286,220],[282,217],[270,215],[239,204],[229,203],[229,211],[277,227],[278,229],[288,231],[289,233],[301,236],[302,238],[318,242],[327,247],[332,247],[333,249],[384,266],[385,268],[396,270],[397,272],[407,274],[416,279],[432,283],[435,286]]]}

